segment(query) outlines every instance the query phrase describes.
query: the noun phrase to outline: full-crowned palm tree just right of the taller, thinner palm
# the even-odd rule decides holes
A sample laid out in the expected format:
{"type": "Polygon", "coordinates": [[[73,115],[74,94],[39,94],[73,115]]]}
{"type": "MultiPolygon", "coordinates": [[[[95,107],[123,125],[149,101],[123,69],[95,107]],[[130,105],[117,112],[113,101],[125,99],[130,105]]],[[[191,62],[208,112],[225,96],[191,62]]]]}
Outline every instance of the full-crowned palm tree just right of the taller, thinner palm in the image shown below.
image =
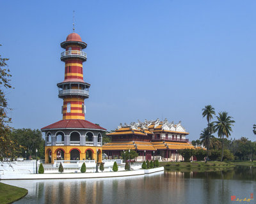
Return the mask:
{"type": "Polygon", "coordinates": [[[214,128],[218,131],[219,138],[222,138],[222,154],[221,161],[223,159],[223,151],[224,151],[224,136],[228,138],[230,136],[230,132],[232,132],[231,126],[234,126],[235,120],[232,120],[233,117],[228,116],[227,112],[220,112],[219,115],[216,116],[217,121],[214,121],[214,128]]]}

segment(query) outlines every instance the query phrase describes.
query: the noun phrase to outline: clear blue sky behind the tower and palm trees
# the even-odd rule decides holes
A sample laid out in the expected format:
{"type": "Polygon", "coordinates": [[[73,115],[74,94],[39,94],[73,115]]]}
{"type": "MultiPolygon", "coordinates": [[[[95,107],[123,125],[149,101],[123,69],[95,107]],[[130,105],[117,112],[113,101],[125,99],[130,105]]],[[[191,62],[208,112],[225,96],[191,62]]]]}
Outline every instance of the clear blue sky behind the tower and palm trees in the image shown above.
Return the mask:
{"type": "Polygon", "coordinates": [[[138,119],[181,120],[195,140],[207,126],[202,108],[211,104],[236,120],[232,138],[255,140],[256,1],[1,1],[0,7],[14,128],[62,119],[60,43],[72,33],[75,10],[76,33],[88,44],[86,120],[108,130],[138,119]]]}

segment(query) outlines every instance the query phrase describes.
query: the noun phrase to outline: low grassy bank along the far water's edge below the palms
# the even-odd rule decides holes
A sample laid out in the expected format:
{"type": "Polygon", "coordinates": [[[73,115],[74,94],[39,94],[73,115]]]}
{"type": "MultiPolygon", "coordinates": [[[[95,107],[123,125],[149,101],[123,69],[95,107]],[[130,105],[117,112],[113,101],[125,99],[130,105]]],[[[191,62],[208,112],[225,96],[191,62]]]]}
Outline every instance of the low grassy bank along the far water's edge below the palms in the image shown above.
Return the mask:
{"type": "Polygon", "coordinates": [[[179,169],[200,169],[209,170],[215,168],[230,168],[236,166],[235,163],[231,162],[220,162],[220,161],[208,161],[207,163],[202,161],[194,162],[159,162],[159,166],[163,166],[164,170],[179,170],[179,169]]]}

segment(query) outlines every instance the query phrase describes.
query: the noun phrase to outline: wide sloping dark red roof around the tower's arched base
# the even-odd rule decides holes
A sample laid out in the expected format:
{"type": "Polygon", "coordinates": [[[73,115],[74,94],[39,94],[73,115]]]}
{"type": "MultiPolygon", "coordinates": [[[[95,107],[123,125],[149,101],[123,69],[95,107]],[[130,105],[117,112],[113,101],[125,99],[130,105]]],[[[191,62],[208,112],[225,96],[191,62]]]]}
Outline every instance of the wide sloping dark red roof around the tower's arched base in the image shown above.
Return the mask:
{"type": "Polygon", "coordinates": [[[85,129],[102,129],[106,130],[105,128],[102,128],[100,126],[97,126],[96,124],[89,122],[88,120],[79,120],[79,119],[68,119],[68,120],[60,120],[58,122],[55,122],[49,126],[46,126],[44,128],[41,128],[41,130],[45,129],[61,129],[61,128],[85,128],[85,129]]]}

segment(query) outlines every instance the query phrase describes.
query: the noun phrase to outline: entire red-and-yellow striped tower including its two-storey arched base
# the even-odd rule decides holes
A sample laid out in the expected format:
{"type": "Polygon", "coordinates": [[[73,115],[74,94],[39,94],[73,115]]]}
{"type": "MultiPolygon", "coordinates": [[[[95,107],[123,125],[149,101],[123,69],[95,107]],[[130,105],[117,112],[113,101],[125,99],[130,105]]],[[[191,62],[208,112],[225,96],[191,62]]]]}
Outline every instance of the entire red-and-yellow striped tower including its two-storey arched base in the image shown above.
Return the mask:
{"type": "Polygon", "coordinates": [[[84,99],[89,98],[90,84],[83,78],[83,62],[87,57],[82,50],[87,44],[79,34],[71,33],[60,45],[65,49],[60,57],[65,62],[65,78],[57,84],[59,98],[63,99],[63,118],[41,129],[45,133],[45,163],[56,160],[101,162],[102,134],[106,129],[84,119],[84,99]]]}

